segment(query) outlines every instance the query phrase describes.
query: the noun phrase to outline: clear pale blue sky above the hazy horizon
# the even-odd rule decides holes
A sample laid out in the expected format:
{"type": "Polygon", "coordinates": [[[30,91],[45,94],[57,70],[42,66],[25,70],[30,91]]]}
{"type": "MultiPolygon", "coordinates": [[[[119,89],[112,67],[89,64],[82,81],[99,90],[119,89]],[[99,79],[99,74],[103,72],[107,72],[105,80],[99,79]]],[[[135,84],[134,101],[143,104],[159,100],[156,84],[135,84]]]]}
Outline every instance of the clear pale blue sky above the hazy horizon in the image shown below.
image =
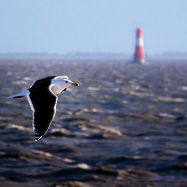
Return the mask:
{"type": "Polygon", "coordinates": [[[186,0],[0,0],[0,53],[187,52],[186,0]]]}

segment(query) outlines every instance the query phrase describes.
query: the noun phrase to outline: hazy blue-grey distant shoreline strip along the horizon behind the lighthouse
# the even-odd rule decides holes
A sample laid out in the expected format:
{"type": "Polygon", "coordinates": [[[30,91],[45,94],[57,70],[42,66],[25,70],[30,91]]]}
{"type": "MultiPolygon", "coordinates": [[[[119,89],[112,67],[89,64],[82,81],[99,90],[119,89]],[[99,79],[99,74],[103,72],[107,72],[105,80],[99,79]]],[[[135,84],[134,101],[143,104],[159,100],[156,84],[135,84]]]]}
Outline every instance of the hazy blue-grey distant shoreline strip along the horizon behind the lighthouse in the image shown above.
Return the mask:
{"type": "MultiPolygon", "coordinates": [[[[182,59],[187,60],[187,53],[163,53],[146,55],[146,59],[182,59]]],[[[96,59],[123,59],[131,60],[133,55],[123,53],[87,53],[87,52],[75,52],[75,53],[0,53],[0,59],[67,59],[67,60],[96,60],[96,59]]]]}

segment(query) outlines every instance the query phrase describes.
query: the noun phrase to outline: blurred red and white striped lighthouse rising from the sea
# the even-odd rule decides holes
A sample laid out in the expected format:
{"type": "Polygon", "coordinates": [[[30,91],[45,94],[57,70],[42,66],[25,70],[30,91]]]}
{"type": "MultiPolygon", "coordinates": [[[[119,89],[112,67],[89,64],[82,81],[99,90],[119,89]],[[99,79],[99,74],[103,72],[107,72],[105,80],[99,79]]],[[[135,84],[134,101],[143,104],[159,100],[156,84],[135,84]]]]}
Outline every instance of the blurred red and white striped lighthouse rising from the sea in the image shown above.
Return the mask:
{"type": "Polygon", "coordinates": [[[145,64],[143,30],[140,27],[136,30],[136,48],[133,63],[145,64]]]}

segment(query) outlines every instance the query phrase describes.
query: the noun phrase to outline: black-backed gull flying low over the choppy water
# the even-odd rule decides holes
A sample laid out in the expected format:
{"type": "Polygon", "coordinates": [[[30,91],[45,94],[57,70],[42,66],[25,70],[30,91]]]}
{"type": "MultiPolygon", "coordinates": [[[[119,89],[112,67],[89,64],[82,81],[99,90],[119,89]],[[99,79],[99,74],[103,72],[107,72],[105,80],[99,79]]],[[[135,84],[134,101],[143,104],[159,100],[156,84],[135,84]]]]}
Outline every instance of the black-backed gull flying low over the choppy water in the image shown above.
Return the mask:
{"type": "Polygon", "coordinates": [[[68,76],[50,76],[36,80],[28,89],[8,97],[27,97],[33,111],[35,141],[46,134],[55,117],[58,94],[72,86],[79,86],[79,83],[69,80],[68,76]]]}

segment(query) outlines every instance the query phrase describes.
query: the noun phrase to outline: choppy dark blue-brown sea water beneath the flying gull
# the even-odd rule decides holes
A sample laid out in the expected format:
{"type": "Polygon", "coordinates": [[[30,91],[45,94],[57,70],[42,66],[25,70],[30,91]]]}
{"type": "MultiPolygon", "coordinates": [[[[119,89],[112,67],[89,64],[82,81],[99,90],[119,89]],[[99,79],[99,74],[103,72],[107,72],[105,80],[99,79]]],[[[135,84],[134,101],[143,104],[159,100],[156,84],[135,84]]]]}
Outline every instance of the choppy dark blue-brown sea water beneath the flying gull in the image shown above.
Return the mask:
{"type": "Polygon", "coordinates": [[[0,61],[0,186],[187,186],[187,61],[0,61]],[[26,99],[35,79],[68,75],[35,142],[26,99]]]}

